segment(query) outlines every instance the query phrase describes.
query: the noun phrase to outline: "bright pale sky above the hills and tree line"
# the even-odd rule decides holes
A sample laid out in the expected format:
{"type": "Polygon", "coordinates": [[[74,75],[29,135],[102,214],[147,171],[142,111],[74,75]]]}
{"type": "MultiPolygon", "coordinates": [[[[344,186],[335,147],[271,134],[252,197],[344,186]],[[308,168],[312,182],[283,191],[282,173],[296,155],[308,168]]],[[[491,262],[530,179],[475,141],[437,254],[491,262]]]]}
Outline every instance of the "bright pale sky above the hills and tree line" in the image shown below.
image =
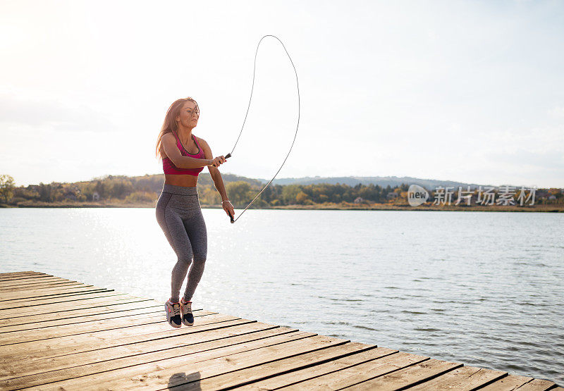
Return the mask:
{"type": "MultiPolygon", "coordinates": [[[[0,175],[162,173],[193,97],[219,168],[564,187],[563,1],[0,0],[0,175]],[[276,39],[283,42],[294,70],[276,39]]],[[[207,170],[205,170],[207,172],[207,170]]]]}

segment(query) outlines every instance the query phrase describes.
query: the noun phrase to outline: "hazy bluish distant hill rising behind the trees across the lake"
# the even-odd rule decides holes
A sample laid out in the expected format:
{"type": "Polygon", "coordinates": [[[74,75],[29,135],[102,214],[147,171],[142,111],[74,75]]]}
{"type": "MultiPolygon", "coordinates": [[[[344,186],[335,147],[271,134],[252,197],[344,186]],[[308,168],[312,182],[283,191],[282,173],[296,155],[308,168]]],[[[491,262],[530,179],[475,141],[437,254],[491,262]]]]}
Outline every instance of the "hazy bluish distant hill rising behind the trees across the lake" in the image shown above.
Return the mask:
{"type": "MultiPolygon", "coordinates": [[[[259,179],[262,183],[266,183],[269,180],[259,179]]],[[[453,180],[436,180],[436,179],[421,179],[421,178],[412,178],[412,177],[305,177],[305,178],[279,178],[274,179],[272,181],[274,185],[318,185],[319,183],[327,183],[330,185],[336,185],[340,183],[341,185],[349,185],[351,187],[358,185],[361,183],[362,185],[380,185],[381,187],[386,187],[390,185],[390,187],[396,187],[401,185],[402,183],[407,183],[407,185],[419,185],[424,187],[427,190],[434,190],[438,186],[453,186],[458,187],[462,186],[467,188],[470,185],[470,189],[476,189],[478,186],[485,186],[485,185],[477,185],[475,183],[464,183],[464,182],[455,182],[453,180]]],[[[490,186],[490,185],[487,185],[490,186]]]]}

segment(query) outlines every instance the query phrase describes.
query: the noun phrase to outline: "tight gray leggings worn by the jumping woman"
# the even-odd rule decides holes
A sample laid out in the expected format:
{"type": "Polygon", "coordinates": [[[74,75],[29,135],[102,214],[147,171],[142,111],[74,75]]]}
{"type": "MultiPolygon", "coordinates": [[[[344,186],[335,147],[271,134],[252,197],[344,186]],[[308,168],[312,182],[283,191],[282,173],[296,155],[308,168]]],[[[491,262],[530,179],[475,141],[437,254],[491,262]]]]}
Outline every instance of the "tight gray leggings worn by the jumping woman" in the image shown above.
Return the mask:
{"type": "Polygon", "coordinates": [[[190,301],[204,273],[207,256],[207,230],[197,186],[165,184],[157,201],[156,213],[157,222],[178,257],[172,269],[171,301],[178,302],[180,288],[192,263],[184,292],[185,301],[190,301]]]}

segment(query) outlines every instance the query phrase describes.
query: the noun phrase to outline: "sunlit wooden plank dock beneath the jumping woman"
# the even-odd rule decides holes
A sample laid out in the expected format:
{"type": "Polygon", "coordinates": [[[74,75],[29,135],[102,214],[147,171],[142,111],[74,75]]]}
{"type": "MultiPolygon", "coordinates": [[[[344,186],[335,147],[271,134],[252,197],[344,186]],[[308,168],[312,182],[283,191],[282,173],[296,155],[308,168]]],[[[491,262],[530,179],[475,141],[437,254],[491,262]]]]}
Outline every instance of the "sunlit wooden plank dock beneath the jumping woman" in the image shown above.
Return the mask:
{"type": "Polygon", "coordinates": [[[0,273],[0,389],[563,390],[465,366],[192,309],[33,271],[0,273]]]}

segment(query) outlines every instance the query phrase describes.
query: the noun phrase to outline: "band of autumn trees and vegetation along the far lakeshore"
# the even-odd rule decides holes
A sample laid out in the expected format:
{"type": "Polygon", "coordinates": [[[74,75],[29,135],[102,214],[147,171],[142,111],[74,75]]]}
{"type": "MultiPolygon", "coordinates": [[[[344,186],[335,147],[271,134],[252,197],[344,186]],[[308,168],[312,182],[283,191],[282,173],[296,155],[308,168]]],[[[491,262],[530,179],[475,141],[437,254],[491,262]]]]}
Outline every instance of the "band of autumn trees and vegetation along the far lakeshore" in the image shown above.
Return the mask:
{"type": "MultiPolygon", "coordinates": [[[[227,194],[235,209],[244,209],[264,184],[255,179],[222,174],[227,194]]],[[[9,175],[0,175],[0,207],[4,208],[154,208],[164,183],[164,174],[127,177],[106,175],[85,182],[51,182],[48,185],[14,185],[9,175]]],[[[221,209],[221,197],[209,174],[201,174],[198,194],[202,208],[221,209]]],[[[564,212],[564,190],[537,189],[522,205],[515,190],[514,204],[480,203],[474,190],[470,204],[458,199],[457,189],[447,201],[427,189],[429,199],[422,205],[410,206],[407,190],[410,184],[396,187],[379,185],[355,186],[318,183],[314,185],[271,185],[264,190],[250,209],[293,210],[361,210],[361,211],[499,211],[499,212],[564,212]],[[442,202],[441,202],[442,201],[442,202]]],[[[462,189],[464,190],[464,189],[462,189]]],[[[494,190],[495,195],[501,189],[494,190]]],[[[500,194],[498,194],[500,193],[500,194]]],[[[494,200],[498,197],[494,197],[494,200]]]]}

